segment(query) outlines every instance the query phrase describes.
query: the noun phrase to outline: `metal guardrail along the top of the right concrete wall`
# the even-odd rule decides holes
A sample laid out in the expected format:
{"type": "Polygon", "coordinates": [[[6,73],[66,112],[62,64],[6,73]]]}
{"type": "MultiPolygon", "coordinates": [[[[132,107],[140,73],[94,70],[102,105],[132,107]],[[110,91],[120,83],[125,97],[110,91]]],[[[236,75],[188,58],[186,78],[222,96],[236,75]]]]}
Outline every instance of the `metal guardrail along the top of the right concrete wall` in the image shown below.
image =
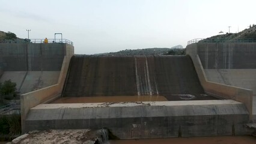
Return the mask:
{"type": "Polygon", "coordinates": [[[195,38],[194,40],[187,41],[187,45],[192,43],[256,43],[256,38],[239,38],[234,40],[225,38],[195,38]]]}

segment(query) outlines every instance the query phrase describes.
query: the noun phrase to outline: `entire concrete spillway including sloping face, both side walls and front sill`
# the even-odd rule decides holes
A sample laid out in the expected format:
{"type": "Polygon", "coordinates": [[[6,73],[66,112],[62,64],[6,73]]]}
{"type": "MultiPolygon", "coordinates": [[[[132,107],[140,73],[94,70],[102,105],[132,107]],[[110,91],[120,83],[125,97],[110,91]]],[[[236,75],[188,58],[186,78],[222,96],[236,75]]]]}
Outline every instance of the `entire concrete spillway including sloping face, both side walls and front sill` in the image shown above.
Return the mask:
{"type": "Polygon", "coordinates": [[[108,128],[120,139],[247,133],[251,91],[208,82],[196,46],[187,56],[88,56],[63,45],[58,83],[21,96],[22,131],[108,128]]]}

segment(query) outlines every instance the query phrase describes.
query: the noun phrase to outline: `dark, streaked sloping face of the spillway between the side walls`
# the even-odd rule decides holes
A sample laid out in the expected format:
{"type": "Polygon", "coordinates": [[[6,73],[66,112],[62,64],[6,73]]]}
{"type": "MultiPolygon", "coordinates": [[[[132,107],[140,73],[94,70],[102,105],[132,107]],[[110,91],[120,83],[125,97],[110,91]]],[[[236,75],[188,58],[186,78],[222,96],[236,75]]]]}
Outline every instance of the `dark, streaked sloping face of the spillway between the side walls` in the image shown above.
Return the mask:
{"type": "Polygon", "coordinates": [[[204,94],[189,56],[72,57],[62,97],[135,95],[216,99],[204,94]]]}

